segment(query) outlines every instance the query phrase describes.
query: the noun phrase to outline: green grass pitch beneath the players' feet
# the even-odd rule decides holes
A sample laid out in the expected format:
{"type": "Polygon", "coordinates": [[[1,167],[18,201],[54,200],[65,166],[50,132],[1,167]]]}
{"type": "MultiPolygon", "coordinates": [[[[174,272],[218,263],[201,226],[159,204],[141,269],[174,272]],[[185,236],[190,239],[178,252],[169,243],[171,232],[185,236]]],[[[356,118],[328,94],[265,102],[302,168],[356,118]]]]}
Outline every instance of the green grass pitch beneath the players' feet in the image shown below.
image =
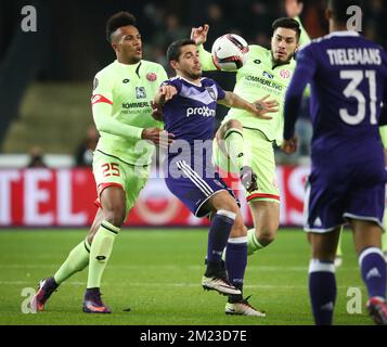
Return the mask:
{"type": "MultiPolygon", "coordinates": [[[[304,232],[291,229],[281,229],[272,245],[248,258],[244,294],[251,295],[250,304],[265,310],[266,318],[227,316],[225,297],[203,291],[204,229],[122,230],[101,288],[112,314],[81,312],[86,270],[60,286],[44,312],[27,313],[28,295],[38,280],[52,275],[85,235],[86,230],[0,231],[1,325],[312,324],[307,287],[310,249],[304,232]]],[[[372,324],[350,232],[343,241],[334,324],[372,324]]]]}

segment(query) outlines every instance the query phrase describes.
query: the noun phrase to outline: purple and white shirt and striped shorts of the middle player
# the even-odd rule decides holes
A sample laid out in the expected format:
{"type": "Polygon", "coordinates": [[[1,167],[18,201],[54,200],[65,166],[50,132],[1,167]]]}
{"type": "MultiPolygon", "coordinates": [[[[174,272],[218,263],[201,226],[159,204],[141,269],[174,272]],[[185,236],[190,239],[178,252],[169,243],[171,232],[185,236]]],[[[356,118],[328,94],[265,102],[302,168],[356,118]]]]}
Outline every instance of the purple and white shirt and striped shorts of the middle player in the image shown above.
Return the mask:
{"type": "Polygon", "coordinates": [[[204,217],[211,213],[206,203],[219,191],[228,191],[237,202],[211,164],[217,100],[225,93],[209,78],[194,85],[175,77],[165,85],[178,90],[164,105],[165,129],[175,134],[164,163],[165,182],[195,216],[204,217]]]}

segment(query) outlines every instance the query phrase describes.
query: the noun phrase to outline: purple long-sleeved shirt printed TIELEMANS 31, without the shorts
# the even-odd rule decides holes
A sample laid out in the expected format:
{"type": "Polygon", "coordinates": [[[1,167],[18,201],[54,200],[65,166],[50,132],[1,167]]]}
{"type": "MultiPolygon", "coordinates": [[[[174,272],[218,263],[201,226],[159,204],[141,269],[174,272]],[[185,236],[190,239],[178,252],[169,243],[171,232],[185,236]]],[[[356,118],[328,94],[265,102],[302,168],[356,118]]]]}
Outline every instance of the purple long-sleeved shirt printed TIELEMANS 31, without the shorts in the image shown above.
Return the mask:
{"type": "Polygon", "coordinates": [[[337,170],[363,163],[377,165],[380,172],[378,121],[387,101],[386,81],[386,52],[358,33],[336,31],[313,40],[297,54],[286,93],[285,138],[294,131],[293,119],[286,119],[294,114],[288,97],[310,82],[313,165],[337,170]]]}

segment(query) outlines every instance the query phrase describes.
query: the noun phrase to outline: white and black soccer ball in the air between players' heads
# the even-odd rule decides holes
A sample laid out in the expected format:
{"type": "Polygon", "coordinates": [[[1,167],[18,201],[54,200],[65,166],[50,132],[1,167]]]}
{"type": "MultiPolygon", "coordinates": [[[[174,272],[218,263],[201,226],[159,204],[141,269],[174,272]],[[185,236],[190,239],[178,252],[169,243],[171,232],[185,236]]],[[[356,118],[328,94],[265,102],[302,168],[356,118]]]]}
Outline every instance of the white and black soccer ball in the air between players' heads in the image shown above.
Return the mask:
{"type": "Polygon", "coordinates": [[[235,34],[225,34],[212,44],[212,60],[218,69],[232,72],[241,68],[248,57],[248,44],[235,34]]]}

